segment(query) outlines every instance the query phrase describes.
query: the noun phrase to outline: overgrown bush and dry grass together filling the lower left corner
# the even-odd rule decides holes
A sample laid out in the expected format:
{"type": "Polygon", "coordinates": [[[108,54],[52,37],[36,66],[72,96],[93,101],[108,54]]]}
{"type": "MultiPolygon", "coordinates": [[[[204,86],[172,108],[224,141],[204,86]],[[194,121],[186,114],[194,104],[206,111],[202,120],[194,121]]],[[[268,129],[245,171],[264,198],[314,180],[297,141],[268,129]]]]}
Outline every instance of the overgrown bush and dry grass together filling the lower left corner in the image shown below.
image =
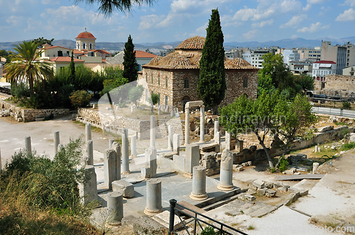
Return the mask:
{"type": "Polygon", "coordinates": [[[0,173],[0,227],[4,234],[97,234],[91,208],[80,202],[77,182],[88,180],[81,139],[70,140],[53,160],[19,151],[0,173]]]}

